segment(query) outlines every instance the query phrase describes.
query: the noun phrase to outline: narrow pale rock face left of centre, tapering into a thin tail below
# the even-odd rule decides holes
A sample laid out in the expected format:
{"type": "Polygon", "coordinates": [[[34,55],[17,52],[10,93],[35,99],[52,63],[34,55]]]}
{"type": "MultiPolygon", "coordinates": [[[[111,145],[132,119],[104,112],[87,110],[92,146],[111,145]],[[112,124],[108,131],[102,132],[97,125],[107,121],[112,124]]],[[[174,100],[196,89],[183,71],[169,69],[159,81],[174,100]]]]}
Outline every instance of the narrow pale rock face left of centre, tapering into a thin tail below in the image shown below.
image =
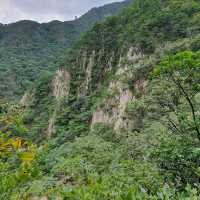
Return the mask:
{"type": "Polygon", "coordinates": [[[55,122],[57,112],[60,109],[62,100],[67,98],[70,92],[70,74],[64,69],[59,69],[52,81],[53,96],[55,97],[55,108],[48,122],[47,135],[50,138],[56,132],[55,122]]]}

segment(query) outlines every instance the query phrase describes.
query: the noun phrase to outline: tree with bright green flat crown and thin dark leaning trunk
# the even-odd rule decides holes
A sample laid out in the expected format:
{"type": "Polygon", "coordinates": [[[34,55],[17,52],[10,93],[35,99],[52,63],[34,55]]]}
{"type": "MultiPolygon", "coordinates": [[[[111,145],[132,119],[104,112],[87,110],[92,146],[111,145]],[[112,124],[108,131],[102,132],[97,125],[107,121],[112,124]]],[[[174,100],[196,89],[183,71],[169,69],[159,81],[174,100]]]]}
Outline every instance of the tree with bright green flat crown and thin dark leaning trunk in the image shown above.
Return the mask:
{"type": "Polygon", "coordinates": [[[180,123],[178,127],[170,119],[172,127],[176,131],[183,133],[183,131],[186,131],[186,126],[184,126],[183,122],[189,122],[190,120],[187,121],[187,119],[191,119],[190,116],[192,115],[192,123],[187,125],[189,125],[188,128],[190,130],[192,129],[196,132],[200,140],[200,116],[194,100],[195,96],[200,92],[200,52],[185,51],[165,58],[154,68],[152,78],[159,79],[161,84],[168,84],[168,87],[171,87],[168,90],[171,94],[168,94],[168,96],[173,99],[167,99],[167,101],[170,100],[171,102],[167,102],[164,106],[167,105],[168,111],[174,111],[178,115],[180,123]],[[187,103],[190,112],[185,112],[185,109],[183,109],[184,101],[187,103]]]}

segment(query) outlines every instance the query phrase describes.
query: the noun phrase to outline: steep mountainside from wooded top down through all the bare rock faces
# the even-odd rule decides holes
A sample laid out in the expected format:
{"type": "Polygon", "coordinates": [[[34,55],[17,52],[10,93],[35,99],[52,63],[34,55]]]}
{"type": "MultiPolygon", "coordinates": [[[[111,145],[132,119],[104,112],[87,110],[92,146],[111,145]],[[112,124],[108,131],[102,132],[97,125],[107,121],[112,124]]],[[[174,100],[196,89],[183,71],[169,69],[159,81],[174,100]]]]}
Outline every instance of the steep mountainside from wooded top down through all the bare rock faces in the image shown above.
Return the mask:
{"type": "Polygon", "coordinates": [[[143,109],[130,116],[129,107],[142,102],[148,93],[153,66],[168,54],[192,49],[193,41],[199,37],[198,22],[194,23],[198,11],[188,11],[181,5],[170,0],[151,4],[138,0],[121,15],[96,24],[68,52],[66,71],[58,70],[54,78],[49,78],[46,95],[38,98],[40,115],[47,107],[48,123],[41,125],[48,127],[47,135],[61,129],[74,136],[84,134],[96,124],[108,125],[118,134],[140,131],[145,121],[143,109]],[[172,15],[168,16],[166,7],[172,15]],[[155,10],[149,13],[149,9],[155,10]],[[177,9],[184,17],[177,15],[177,9]],[[173,15],[179,19],[176,26],[165,22],[158,26],[157,21],[174,20],[173,15]],[[196,31],[191,33],[187,24],[193,24],[196,31]],[[63,97],[68,100],[61,104],[63,97]]]}

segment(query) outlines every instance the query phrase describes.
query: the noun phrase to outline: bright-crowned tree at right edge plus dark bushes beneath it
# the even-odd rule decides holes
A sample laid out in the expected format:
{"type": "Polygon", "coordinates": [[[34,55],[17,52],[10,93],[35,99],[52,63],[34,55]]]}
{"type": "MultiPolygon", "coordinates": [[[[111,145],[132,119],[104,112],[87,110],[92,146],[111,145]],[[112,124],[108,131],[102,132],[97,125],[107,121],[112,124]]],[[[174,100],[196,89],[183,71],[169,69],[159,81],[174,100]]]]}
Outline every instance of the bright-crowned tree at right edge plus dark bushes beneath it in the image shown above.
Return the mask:
{"type": "Polygon", "coordinates": [[[162,111],[160,120],[171,134],[157,150],[159,165],[177,187],[199,180],[199,52],[180,52],[164,59],[152,73],[152,94],[162,111]],[[175,135],[172,135],[175,134],[175,135]]]}

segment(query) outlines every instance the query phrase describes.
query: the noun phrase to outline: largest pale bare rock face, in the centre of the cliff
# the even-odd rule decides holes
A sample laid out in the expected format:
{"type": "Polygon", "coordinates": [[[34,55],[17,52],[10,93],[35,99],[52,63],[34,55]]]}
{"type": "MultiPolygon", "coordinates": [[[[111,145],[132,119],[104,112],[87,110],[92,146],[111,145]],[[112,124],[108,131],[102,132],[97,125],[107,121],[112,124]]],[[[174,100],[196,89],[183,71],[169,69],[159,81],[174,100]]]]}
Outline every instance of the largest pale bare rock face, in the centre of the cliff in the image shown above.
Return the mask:
{"type": "MultiPolygon", "coordinates": [[[[133,47],[128,50],[124,58],[120,57],[116,78],[110,82],[108,88],[108,93],[112,93],[112,91],[117,92],[113,96],[106,97],[106,99],[103,100],[103,107],[97,106],[97,110],[93,113],[91,128],[96,123],[111,125],[116,132],[131,128],[131,122],[127,117],[126,108],[128,103],[134,101],[136,97],[129,89],[128,83],[125,82],[132,78],[132,73],[129,71],[127,62],[136,65],[143,57],[144,55],[133,47]]],[[[138,90],[144,90],[146,84],[147,82],[144,80],[136,81],[134,86],[138,90]]]]}

